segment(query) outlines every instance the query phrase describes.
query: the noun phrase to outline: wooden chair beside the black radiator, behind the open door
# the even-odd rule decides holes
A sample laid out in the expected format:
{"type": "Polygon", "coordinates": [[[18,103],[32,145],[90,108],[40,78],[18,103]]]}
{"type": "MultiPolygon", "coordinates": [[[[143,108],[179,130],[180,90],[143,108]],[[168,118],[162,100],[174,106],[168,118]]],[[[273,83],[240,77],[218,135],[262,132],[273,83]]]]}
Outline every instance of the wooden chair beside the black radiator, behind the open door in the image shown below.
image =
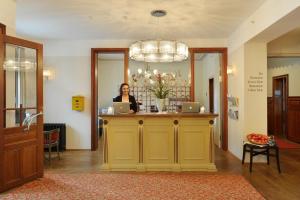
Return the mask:
{"type": "Polygon", "coordinates": [[[56,147],[58,159],[60,159],[59,155],[59,132],[60,129],[53,129],[50,131],[44,131],[44,148],[48,149],[48,160],[51,164],[51,151],[52,147],[56,147]]]}

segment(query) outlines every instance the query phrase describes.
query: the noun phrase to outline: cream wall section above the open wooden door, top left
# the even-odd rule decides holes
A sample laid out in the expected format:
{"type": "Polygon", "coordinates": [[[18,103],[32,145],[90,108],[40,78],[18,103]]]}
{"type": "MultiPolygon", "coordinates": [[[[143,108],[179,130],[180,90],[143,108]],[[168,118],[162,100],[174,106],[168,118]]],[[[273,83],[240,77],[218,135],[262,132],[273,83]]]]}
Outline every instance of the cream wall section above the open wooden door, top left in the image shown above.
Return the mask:
{"type": "Polygon", "coordinates": [[[0,23],[6,25],[6,34],[16,34],[16,1],[0,0],[0,23]]]}

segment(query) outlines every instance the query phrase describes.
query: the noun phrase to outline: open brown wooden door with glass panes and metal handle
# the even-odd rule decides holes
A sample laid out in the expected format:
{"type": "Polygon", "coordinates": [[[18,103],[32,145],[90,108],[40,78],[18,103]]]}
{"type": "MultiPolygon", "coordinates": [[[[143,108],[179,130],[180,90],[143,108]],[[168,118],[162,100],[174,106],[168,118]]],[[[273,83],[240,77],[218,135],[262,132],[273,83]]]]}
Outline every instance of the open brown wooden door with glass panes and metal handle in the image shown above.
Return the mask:
{"type": "Polygon", "coordinates": [[[42,55],[0,34],[0,192],[43,176],[42,55]]]}

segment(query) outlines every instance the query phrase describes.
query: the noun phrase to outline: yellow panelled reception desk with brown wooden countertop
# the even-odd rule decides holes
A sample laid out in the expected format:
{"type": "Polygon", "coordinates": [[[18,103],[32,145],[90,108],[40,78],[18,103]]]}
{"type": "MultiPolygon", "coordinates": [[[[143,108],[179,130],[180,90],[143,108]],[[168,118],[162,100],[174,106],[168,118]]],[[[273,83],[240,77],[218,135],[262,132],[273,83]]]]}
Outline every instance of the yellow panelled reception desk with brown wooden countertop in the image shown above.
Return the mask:
{"type": "Polygon", "coordinates": [[[100,115],[107,171],[216,171],[216,114],[100,115]]]}

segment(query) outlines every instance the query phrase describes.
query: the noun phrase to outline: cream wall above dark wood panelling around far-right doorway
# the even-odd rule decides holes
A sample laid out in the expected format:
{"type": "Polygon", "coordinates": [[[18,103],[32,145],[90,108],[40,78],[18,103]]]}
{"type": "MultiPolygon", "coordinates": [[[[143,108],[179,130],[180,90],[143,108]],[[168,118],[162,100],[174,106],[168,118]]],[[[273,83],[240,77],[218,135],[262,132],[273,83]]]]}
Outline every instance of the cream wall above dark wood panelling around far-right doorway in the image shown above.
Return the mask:
{"type": "Polygon", "coordinates": [[[268,97],[272,97],[273,77],[289,75],[289,96],[300,96],[300,58],[268,58],[268,97]]]}

